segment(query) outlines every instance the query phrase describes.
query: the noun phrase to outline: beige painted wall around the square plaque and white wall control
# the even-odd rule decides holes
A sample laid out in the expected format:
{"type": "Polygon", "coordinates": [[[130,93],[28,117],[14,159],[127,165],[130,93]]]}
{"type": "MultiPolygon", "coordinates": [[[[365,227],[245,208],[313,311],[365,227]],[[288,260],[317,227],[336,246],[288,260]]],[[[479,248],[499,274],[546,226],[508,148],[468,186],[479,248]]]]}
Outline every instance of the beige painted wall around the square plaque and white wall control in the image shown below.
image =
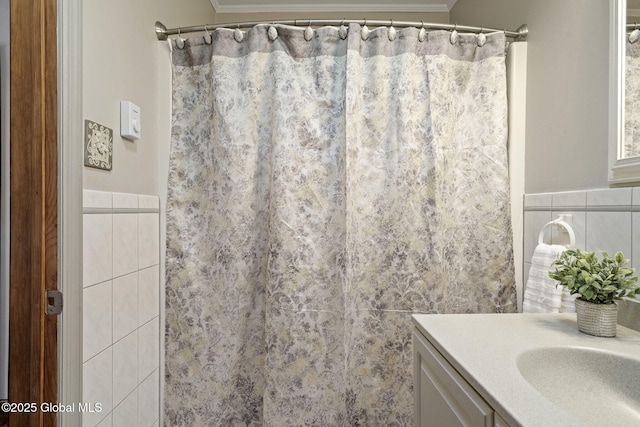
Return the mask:
{"type": "Polygon", "coordinates": [[[169,49],[153,31],[156,20],[175,26],[211,22],[208,0],[83,2],[83,115],[113,129],[113,170],[84,168],[86,189],[158,194],[158,150],[169,144],[169,49]],[[142,138],[120,137],[120,101],[141,108],[142,138]]]}

